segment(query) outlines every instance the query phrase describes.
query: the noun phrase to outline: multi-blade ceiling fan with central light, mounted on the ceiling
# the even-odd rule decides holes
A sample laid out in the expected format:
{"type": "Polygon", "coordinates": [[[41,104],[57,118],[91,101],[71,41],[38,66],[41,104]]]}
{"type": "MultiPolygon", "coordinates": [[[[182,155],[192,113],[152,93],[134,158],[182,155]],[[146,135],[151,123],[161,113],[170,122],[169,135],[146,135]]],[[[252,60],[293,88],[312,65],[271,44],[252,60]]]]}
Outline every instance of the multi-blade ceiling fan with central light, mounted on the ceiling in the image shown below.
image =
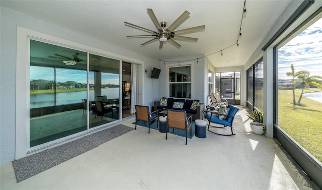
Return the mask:
{"type": "Polygon", "coordinates": [[[169,43],[171,43],[175,47],[180,48],[181,45],[173,39],[196,42],[198,40],[198,38],[191,38],[191,37],[185,37],[185,36],[180,36],[180,35],[201,32],[203,29],[205,29],[205,25],[202,25],[202,26],[197,26],[197,27],[174,31],[176,28],[178,28],[183,22],[185,22],[189,18],[190,13],[188,11],[185,11],[167,29],[165,29],[165,27],[167,26],[167,23],[163,21],[159,24],[152,9],[147,9],[147,14],[149,15],[153,24],[155,25],[155,27],[157,29],[156,32],[146,29],[146,28],[143,28],[143,27],[140,27],[140,26],[137,26],[137,25],[134,25],[134,24],[131,24],[131,23],[128,23],[128,22],[124,22],[126,25],[129,25],[130,27],[134,27],[134,28],[142,30],[144,32],[152,33],[152,35],[126,36],[128,38],[154,37],[153,39],[151,39],[145,43],[142,43],[141,46],[151,43],[155,40],[159,40],[160,41],[159,49],[162,49],[163,43],[166,41],[168,41],[169,43]]]}

